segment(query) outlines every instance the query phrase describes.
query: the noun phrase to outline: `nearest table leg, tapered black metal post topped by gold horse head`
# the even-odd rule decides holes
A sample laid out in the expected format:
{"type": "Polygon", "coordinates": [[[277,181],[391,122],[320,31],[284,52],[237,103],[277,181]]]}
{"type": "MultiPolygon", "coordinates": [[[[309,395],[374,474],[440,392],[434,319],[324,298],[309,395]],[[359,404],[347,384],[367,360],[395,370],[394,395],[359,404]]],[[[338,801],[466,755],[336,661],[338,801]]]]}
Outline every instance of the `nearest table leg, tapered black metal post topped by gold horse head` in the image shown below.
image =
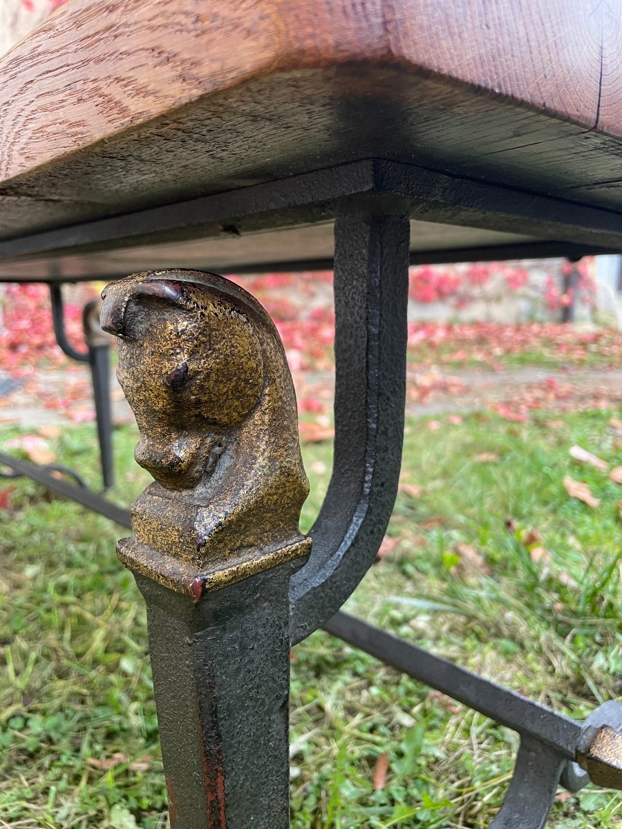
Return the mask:
{"type": "Polygon", "coordinates": [[[173,829],[289,827],[289,579],[309,486],[270,318],[215,274],[104,292],[153,474],[119,556],[148,607],[173,829]]]}

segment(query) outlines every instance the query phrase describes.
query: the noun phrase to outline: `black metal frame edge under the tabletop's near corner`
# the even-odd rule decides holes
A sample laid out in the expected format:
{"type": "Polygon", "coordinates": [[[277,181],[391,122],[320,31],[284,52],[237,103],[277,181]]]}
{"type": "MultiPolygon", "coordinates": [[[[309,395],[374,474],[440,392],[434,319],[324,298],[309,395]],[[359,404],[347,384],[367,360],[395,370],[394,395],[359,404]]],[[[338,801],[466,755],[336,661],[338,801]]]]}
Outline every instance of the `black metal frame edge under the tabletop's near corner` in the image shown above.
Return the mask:
{"type": "MultiPolygon", "coordinates": [[[[123,216],[71,225],[0,242],[0,260],[63,251],[109,250],[150,241],[252,232],[331,219],[338,202],[357,194],[411,202],[425,221],[485,227],[567,243],[622,249],[620,213],[498,187],[410,164],[367,159],[123,216]]],[[[561,255],[566,255],[564,252],[561,255]]],[[[449,261],[449,259],[445,259],[449,261]]],[[[114,274],[110,274],[113,276],[114,274]]],[[[50,279],[62,279],[50,274],[50,279]]]]}

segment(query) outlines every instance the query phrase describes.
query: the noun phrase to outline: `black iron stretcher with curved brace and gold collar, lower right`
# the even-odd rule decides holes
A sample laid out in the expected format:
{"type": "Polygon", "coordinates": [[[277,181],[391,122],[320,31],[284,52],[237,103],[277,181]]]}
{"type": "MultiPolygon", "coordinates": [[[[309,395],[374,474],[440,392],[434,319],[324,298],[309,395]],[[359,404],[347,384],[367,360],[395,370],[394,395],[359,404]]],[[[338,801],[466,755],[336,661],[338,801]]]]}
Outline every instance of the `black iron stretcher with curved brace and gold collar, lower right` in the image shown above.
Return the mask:
{"type": "Polygon", "coordinates": [[[571,792],[590,782],[622,789],[619,702],[600,705],[581,725],[347,613],[323,628],[520,734],[513,778],[490,829],[542,829],[560,783],[571,792]]]}

